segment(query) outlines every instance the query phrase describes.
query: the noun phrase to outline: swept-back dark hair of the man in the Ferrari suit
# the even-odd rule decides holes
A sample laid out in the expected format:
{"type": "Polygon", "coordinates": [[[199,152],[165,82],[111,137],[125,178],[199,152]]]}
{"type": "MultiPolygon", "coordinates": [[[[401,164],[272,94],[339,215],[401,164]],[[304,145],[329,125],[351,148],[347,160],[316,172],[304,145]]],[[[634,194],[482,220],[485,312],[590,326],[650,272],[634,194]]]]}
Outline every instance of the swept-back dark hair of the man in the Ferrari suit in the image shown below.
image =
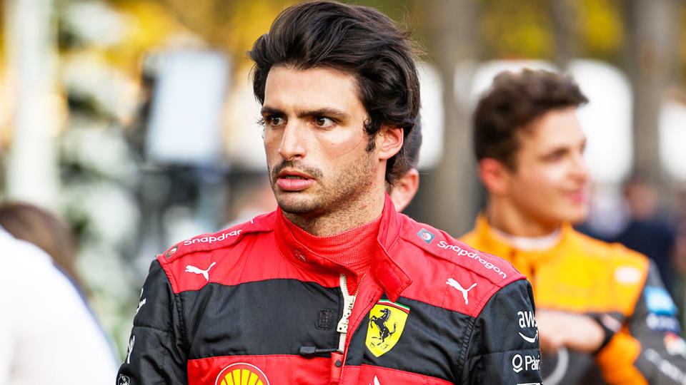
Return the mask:
{"type": "MultiPolygon", "coordinates": [[[[359,100],[369,115],[364,122],[371,137],[367,150],[374,148],[374,135],[382,125],[402,128],[408,138],[417,124],[419,78],[409,33],[376,9],[330,1],[291,6],[248,54],[255,63],[253,91],[260,104],[272,66],[327,67],[354,76],[359,100]]],[[[396,163],[404,169],[408,162],[405,148],[390,158],[387,182],[402,176],[395,171],[396,163]]]]}

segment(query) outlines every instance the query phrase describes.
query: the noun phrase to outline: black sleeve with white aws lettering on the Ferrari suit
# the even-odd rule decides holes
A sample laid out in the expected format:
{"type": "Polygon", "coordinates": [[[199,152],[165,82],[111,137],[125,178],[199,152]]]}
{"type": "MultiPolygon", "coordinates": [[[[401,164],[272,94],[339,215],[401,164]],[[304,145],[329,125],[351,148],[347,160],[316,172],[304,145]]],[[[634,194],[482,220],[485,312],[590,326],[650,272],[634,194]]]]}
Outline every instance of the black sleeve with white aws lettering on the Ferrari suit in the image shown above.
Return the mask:
{"type": "Polygon", "coordinates": [[[460,384],[541,384],[531,284],[499,289],[474,322],[460,384]]]}

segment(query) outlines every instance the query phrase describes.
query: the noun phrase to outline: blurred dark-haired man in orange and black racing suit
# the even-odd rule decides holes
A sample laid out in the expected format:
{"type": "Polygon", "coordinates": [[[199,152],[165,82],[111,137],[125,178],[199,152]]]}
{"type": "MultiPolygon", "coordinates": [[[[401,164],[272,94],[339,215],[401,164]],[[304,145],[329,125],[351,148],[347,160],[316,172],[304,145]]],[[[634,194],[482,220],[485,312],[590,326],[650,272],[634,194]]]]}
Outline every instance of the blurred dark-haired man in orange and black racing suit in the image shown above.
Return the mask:
{"type": "Polygon", "coordinates": [[[488,205],[461,239],[532,282],[545,384],[683,384],[686,344],[655,265],[572,229],[587,215],[586,101],[556,73],[494,79],[474,113],[488,205]]]}

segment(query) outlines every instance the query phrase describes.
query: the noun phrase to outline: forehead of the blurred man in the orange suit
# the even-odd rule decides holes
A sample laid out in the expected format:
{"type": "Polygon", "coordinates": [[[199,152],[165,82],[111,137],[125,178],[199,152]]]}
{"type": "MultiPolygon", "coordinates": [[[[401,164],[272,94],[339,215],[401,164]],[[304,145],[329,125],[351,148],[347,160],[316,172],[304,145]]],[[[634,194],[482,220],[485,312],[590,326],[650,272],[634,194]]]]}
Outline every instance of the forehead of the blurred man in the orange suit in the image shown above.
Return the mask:
{"type": "Polygon", "coordinates": [[[549,111],[521,130],[517,136],[520,153],[524,148],[545,151],[577,146],[586,139],[575,107],[549,111]]]}

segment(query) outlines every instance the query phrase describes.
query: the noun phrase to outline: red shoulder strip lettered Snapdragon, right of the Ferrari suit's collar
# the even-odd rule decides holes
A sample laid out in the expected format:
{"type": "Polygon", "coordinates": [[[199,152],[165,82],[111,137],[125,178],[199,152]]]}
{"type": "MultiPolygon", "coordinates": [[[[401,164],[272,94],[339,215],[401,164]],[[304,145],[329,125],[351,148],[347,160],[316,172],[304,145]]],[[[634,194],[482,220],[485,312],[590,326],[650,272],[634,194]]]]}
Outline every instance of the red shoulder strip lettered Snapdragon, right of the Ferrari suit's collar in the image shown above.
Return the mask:
{"type": "Polygon", "coordinates": [[[430,225],[408,219],[400,236],[434,257],[437,263],[478,274],[499,287],[523,277],[506,260],[474,249],[430,225]]]}

